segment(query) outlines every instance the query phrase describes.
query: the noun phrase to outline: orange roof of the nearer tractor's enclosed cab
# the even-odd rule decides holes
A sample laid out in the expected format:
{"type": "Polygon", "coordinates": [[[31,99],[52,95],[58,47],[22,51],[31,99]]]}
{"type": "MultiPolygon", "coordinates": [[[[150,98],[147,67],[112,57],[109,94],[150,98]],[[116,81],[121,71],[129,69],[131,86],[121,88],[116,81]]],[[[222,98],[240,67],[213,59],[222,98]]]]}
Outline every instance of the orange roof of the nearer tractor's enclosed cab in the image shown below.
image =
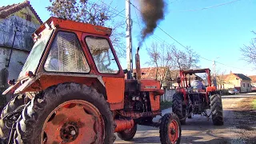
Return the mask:
{"type": "Polygon", "coordinates": [[[67,19],[50,17],[38,28],[38,30],[34,32],[34,34],[38,35],[42,32],[42,30],[53,26],[66,30],[81,31],[84,33],[99,34],[104,36],[110,36],[112,33],[112,29],[104,26],[94,26],[89,23],[74,22],[67,19]]]}

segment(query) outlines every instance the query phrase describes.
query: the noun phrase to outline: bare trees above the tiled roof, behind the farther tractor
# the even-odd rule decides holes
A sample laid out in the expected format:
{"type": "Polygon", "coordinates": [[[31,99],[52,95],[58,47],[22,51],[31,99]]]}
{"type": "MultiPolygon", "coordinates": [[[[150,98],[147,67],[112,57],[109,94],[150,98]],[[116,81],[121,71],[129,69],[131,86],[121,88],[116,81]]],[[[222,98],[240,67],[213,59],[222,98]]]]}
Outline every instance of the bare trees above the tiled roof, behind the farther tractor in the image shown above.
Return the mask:
{"type": "Polygon", "coordinates": [[[176,78],[178,70],[198,67],[199,56],[190,47],[182,51],[174,45],[167,45],[165,42],[161,44],[153,42],[147,49],[147,53],[150,56],[147,64],[157,67],[156,78],[161,82],[165,81],[166,78],[176,78]],[[165,69],[166,73],[160,73],[162,69],[165,69]]]}

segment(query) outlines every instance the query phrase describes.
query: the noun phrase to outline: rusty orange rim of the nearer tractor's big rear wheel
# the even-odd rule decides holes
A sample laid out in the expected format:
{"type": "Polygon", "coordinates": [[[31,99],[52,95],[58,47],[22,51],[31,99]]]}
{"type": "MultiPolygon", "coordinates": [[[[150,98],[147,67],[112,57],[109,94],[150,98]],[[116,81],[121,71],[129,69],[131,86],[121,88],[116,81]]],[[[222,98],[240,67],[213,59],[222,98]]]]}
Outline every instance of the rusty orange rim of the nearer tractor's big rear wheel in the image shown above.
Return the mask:
{"type": "Polygon", "coordinates": [[[90,102],[71,100],[56,107],[42,127],[41,143],[103,143],[102,115],[90,102]]]}

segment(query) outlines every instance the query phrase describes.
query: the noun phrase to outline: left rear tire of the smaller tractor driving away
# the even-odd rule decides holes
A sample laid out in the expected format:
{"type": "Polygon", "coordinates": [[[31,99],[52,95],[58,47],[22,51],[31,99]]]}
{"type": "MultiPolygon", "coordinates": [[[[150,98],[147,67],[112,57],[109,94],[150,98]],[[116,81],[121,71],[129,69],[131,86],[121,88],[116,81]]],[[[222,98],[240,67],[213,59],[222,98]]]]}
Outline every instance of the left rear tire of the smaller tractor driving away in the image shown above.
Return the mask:
{"type": "Polygon", "coordinates": [[[182,119],[180,122],[182,123],[182,125],[186,124],[186,110],[182,105],[182,98],[183,98],[183,94],[182,93],[175,93],[173,96],[173,105],[172,105],[172,109],[174,114],[178,115],[179,119],[182,119]]]}

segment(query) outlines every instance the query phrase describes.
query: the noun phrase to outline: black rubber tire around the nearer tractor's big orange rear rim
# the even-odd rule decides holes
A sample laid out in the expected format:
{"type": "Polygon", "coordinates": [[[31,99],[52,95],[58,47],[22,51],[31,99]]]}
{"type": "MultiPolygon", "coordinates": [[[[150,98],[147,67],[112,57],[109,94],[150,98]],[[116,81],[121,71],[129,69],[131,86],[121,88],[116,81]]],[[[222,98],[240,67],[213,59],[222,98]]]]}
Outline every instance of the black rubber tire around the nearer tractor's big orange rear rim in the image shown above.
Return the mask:
{"type": "Polygon", "coordinates": [[[14,142],[19,144],[40,143],[41,130],[47,114],[50,114],[51,110],[54,110],[59,104],[73,99],[85,100],[98,108],[103,119],[106,120],[104,143],[113,143],[115,139],[114,119],[106,99],[94,88],[78,83],[50,86],[42,93],[37,94],[25,106],[18,119],[14,142]]]}

